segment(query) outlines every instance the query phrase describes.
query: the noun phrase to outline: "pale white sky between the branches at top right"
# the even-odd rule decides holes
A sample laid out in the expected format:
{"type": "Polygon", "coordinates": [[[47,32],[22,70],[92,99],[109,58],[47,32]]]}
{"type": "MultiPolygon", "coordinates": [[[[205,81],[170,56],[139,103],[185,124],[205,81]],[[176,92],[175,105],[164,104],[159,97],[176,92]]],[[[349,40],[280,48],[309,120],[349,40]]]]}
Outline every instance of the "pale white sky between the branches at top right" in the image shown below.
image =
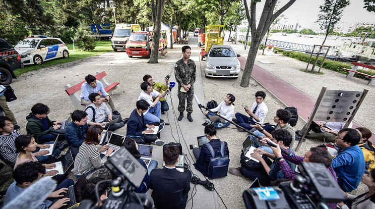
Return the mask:
{"type": "MultiPolygon", "coordinates": [[[[247,0],[250,2],[250,0],[247,0]]],[[[262,13],[264,0],[257,5],[257,17],[262,13]]],[[[279,8],[285,5],[288,0],[280,0],[279,8]]],[[[297,0],[283,14],[287,18],[288,25],[295,25],[297,20],[299,25],[308,28],[312,23],[317,21],[319,6],[324,4],[324,0],[297,0]]],[[[344,9],[341,22],[372,22],[375,23],[375,13],[367,12],[363,9],[363,0],[350,0],[350,5],[344,9]]],[[[250,8],[249,8],[250,9],[250,8]]]]}

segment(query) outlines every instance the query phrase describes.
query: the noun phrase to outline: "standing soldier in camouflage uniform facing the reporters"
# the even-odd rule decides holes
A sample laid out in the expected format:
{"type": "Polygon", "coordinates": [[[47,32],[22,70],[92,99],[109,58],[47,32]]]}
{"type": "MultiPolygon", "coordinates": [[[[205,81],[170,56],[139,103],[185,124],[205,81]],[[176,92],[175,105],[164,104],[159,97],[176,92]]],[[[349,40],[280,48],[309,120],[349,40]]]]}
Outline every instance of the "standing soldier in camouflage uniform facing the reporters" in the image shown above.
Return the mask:
{"type": "Polygon", "coordinates": [[[192,112],[193,112],[193,94],[195,82],[197,76],[196,65],[193,60],[190,59],[192,55],[192,49],[190,46],[182,47],[183,58],[176,62],[174,65],[174,75],[176,77],[176,82],[178,83],[178,120],[182,120],[183,111],[185,110],[185,98],[187,99],[186,112],[188,112],[188,120],[193,122],[192,112]],[[182,91],[181,91],[181,88],[182,91]]]}

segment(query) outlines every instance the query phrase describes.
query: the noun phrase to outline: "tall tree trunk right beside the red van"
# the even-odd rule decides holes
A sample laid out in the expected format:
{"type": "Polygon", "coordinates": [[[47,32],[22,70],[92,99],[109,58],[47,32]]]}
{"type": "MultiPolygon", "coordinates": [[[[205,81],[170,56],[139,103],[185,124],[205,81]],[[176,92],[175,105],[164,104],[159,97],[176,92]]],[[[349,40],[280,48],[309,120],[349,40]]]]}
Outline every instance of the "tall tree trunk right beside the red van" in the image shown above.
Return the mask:
{"type": "Polygon", "coordinates": [[[150,63],[158,63],[161,16],[163,14],[165,1],[166,0],[151,0],[152,23],[154,24],[154,28],[152,30],[150,63]]]}

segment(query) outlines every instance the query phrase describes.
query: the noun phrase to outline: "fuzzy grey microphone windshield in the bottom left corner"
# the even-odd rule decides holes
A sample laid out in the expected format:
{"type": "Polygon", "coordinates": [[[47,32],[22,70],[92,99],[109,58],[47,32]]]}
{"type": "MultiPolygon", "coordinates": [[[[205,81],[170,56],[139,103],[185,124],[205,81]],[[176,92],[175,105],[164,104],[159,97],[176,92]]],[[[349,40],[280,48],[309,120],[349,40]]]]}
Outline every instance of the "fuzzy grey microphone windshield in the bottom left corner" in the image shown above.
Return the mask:
{"type": "Polygon", "coordinates": [[[3,208],[28,208],[35,209],[48,197],[48,195],[56,188],[57,183],[50,177],[41,178],[25,189],[17,198],[8,202],[3,208]]]}

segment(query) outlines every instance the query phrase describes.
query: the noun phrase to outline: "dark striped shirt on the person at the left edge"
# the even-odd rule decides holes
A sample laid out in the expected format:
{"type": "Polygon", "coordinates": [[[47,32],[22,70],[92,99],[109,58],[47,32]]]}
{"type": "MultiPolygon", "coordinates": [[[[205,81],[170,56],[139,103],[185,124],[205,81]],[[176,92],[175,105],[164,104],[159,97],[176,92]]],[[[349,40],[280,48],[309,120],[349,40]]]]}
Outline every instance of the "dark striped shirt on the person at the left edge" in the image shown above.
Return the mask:
{"type": "Polygon", "coordinates": [[[9,135],[0,134],[0,159],[13,168],[17,160],[17,152],[14,141],[21,133],[14,130],[9,135]]]}

